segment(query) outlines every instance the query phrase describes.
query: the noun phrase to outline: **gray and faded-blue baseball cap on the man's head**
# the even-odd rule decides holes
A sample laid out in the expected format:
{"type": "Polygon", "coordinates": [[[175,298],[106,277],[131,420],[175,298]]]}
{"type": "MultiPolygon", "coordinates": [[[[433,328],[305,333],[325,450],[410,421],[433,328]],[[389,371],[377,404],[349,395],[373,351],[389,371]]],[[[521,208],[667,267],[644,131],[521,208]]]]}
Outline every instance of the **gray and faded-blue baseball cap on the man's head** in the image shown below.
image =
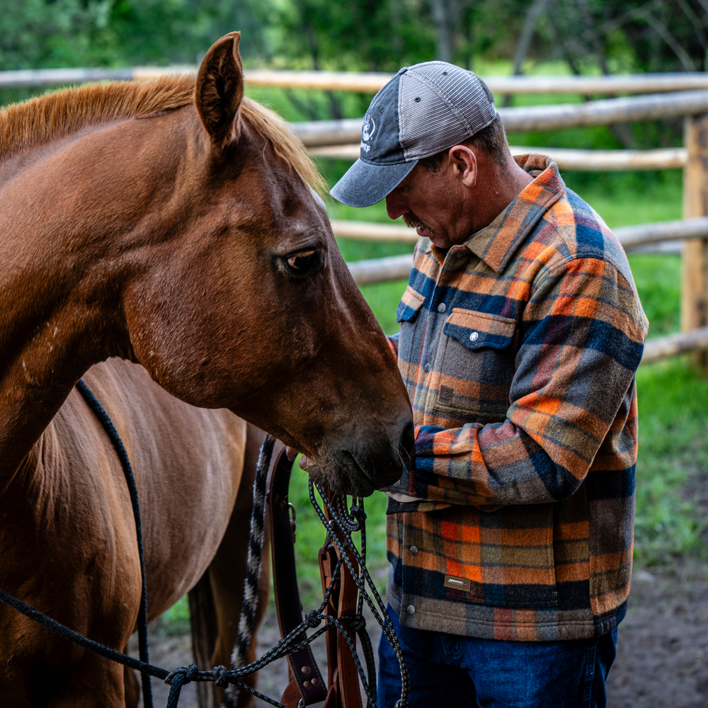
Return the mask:
{"type": "Polygon", "coordinates": [[[394,190],[418,160],[472,137],[496,118],[484,81],[447,62],[404,67],[364,116],[359,159],[330,194],[368,207],[394,190]]]}

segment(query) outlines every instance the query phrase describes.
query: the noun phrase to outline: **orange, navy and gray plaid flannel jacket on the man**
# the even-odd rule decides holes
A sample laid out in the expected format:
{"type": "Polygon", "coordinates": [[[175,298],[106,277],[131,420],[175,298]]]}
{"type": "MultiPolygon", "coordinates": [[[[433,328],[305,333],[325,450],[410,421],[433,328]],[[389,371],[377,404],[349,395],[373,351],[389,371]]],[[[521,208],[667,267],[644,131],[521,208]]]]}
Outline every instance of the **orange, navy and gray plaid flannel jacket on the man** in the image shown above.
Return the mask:
{"type": "Polygon", "coordinates": [[[622,246],[556,164],[447,253],[416,246],[391,338],[416,423],[389,487],[401,624],[488,639],[610,632],[632,568],[634,376],[648,323],[622,246]]]}

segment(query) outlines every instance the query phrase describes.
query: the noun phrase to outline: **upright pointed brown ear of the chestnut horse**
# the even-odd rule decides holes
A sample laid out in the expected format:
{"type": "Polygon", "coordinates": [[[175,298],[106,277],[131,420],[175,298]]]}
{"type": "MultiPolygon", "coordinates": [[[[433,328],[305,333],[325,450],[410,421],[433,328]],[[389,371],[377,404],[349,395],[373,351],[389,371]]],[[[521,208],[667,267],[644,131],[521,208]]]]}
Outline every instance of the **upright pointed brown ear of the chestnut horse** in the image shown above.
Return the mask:
{"type": "Polygon", "coordinates": [[[197,75],[195,104],[215,147],[234,137],[236,115],[244,97],[244,67],[239,54],[240,32],[230,32],[212,45],[197,75]]]}

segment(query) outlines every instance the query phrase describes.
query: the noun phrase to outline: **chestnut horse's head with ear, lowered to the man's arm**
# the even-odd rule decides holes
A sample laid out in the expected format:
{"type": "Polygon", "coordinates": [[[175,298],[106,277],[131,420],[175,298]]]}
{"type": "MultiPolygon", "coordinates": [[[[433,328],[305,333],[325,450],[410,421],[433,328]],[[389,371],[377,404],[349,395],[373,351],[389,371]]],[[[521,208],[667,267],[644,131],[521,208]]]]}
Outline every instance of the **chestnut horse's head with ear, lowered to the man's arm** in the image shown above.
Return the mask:
{"type": "Polygon", "coordinates": [[[122,291],[131,355],[173,395],[304,452],[316,481],[371,493],[411,453],[408,395],[305,181],[309,159],[243,97],[238,45],[231,33],[207,52],[193,105],[144,121],[169,144],[145,131],[133,143],[161,198],[149,265],[122,291]]]}

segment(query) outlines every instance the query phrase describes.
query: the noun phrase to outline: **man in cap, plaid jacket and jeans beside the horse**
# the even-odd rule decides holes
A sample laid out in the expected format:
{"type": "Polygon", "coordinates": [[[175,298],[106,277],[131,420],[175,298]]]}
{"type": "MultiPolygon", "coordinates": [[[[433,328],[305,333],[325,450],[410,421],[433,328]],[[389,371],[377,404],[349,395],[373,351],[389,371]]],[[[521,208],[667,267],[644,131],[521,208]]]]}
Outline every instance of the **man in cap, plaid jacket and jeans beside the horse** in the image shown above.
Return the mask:
{"type": "MultiPolygon", "coordinates": [[[[331,190],[416,227],[392,337],[415,455],[387,489],[388,597],[412,708],[605,705],[632,567],[647,322],[617,239],[493,96],[399,71],[331,190]]],[[[400,696],[379,646],[378,704],[400,696]]]]}

